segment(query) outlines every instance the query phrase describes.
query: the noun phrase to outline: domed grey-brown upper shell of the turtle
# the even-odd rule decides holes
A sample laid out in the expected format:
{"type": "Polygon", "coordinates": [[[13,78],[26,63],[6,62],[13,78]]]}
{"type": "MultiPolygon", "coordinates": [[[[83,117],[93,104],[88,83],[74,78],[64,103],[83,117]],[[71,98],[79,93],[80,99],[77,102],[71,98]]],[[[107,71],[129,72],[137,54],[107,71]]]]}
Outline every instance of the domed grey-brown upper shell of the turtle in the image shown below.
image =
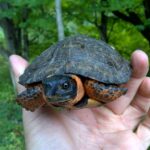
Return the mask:
{"type": "Polygon", "coordinates": [[[28,85],[55,74],[76,74],[107,84],[122,84],[129,80],[131,67],[105,42],[79,35],[45,50],[29,65],[19,82],[28,85]]]}

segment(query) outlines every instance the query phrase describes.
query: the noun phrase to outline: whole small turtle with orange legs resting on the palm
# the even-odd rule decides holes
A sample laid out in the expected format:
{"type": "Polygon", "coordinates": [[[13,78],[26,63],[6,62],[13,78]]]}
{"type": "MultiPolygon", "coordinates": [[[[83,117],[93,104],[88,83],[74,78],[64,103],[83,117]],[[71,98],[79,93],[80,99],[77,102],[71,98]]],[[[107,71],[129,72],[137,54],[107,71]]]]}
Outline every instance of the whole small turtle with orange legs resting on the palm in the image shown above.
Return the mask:
{"type": "Polygon", "coordinates": [[[86,35],[66,37],[43,51],[19,77],[26,110],[98,107],[127,92],[132,67],[117,50],[86,35]]]}

